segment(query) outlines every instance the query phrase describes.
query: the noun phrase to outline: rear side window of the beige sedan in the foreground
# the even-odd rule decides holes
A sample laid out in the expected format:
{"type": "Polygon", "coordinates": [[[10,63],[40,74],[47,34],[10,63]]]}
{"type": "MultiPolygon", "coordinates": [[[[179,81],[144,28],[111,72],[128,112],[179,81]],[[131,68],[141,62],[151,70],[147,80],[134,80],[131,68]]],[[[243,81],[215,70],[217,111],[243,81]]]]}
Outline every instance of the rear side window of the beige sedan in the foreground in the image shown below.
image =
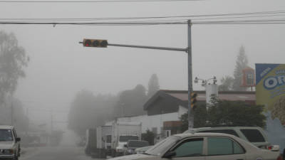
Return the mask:
{"type": "Polygon", "coordinates": [[[209,137],[208,142],[208,153],[207,155],[227,155],[227,154],[243,154],[242,149],[237,142],[232,141],[232,139],[223,137],[209,137]]]}

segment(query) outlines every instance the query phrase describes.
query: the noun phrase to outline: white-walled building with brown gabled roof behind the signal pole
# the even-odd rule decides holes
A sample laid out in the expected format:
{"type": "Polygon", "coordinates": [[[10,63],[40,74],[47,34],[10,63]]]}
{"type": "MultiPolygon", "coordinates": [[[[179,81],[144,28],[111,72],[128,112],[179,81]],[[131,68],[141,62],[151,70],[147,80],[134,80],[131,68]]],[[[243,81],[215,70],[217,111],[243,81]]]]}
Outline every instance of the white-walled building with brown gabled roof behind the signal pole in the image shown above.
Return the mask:
{"type": "MultiPolygon", "coordinates": [[[[206,103],[205,91],[197,92],[197,103],[206,103]]],[[[219,91],[219,100],[244,101],[249,105],[255,105],[255,92],[219,91]]],[[[142,133],[147,129],[159,135],[167,137],[180,133],[182,114],[188,111],[188,91],[185,90],[159,90],[150,97],[144,110],[147,114],[134,117],[118,117],[119,122],[142,122],[142,133]]]]}

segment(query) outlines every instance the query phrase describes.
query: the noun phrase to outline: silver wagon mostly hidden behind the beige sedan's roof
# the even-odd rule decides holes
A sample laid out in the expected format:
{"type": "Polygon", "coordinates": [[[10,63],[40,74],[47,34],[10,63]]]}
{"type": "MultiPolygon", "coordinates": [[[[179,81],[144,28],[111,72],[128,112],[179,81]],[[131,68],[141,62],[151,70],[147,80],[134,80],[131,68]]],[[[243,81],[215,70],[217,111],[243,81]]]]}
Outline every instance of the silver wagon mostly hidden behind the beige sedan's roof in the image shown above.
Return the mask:
{"type": "Polygon", "coordinates": [[[200,133],[200,132],[212,132],[212,133],[224,133],[232,134],[236,137],[251,142],[255,146],[262,149],[271,149],[271,144],[266,137],[266,134],[261,127],[202,127],[187,130],[184,133],[200,133]]]}

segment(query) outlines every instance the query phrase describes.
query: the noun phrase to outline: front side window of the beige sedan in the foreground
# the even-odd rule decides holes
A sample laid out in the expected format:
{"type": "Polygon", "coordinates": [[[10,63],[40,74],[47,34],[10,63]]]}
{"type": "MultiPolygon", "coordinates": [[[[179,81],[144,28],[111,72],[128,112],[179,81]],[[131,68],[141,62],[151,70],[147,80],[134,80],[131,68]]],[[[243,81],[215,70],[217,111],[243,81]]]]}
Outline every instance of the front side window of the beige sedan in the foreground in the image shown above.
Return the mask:
{"type": "Polygon", "coordinates": [[[199,139],[187,139],[179,146],[175,147],[175,157],[185,156],[201,156],[203,153],[203,138],[199,139]]]}

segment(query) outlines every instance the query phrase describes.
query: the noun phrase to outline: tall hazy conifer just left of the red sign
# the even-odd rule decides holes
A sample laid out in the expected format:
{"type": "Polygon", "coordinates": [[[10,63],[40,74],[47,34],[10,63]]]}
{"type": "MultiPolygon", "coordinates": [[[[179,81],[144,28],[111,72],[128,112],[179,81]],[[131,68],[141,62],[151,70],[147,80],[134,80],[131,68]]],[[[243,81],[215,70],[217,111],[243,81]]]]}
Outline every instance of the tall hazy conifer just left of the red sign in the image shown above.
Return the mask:
{"type": "Polygon", "coordinates": [[[242,70],[248,67],[247,55],[245,54],[244,46],[239,48],[239,54],[237,55],[236,66],[234,69],[234,90],[245,90],[244,87],[240,87],[242,85],[242,70]]]}

